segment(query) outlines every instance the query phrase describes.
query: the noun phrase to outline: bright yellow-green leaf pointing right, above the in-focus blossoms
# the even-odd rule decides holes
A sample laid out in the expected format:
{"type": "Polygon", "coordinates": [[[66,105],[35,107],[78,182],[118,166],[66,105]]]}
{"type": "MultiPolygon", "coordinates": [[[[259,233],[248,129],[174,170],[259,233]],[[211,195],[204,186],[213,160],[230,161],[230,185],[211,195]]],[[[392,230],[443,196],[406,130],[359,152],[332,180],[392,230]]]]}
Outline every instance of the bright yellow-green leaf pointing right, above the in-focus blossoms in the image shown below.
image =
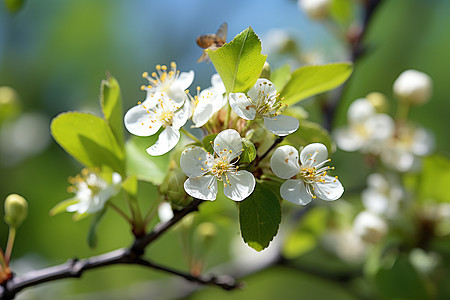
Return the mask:
{"type": "Polygon", "coordinates": [[[352,66],[347,62],[298,68],[280,93],[283,102],[292,105],[338,87],[350,77],[352,66]]]}

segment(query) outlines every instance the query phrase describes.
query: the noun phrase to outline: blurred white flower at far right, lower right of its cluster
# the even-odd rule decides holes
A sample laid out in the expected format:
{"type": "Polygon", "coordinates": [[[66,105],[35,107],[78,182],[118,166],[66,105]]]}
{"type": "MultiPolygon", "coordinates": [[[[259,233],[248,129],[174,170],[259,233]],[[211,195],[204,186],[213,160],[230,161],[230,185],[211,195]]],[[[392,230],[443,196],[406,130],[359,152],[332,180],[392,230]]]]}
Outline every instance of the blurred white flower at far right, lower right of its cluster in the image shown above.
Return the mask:
{"type": "Polygon", "coordinates": [[[381,148],[381,161],[399,172],[417,171],[420,157],[433,152],[434,136],[428,130],[412,124],[401,124],[396,134],[381,148]]]}

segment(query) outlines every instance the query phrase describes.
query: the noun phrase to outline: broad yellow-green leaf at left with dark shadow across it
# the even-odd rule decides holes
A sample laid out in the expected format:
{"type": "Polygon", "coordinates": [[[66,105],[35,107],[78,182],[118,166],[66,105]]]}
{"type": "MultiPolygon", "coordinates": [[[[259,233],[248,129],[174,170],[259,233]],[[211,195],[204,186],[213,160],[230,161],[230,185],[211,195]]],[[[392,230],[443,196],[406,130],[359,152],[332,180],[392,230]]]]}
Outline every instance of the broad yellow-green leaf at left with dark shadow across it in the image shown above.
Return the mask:
{"type": "Polygon", "coordinates": [[[56,142],[86,167],[111,167],[124,175],[124,153],[108,123],[88,113],[67,112],[50,126],[56,142]]]}

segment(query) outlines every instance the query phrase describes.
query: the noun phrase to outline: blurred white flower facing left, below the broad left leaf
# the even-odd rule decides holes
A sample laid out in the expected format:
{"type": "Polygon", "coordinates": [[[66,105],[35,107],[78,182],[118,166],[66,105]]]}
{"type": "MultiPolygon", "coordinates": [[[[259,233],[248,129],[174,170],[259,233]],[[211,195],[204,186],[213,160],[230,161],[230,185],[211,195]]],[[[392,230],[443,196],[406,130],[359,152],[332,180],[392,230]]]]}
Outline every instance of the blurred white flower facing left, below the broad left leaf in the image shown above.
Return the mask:
{"type": "Polygon", "coordinates": [[[70,178],[72,187],[69,191],[75,196],[69,200],[75,203],[67,206],[66,211],[82,215],[102,210],[105,203],[119,192],[121,182],[122,177],[118,173],[112,173],[112,182],[108,183],[94,171],[83,169],[81,176],[70,178]]]}

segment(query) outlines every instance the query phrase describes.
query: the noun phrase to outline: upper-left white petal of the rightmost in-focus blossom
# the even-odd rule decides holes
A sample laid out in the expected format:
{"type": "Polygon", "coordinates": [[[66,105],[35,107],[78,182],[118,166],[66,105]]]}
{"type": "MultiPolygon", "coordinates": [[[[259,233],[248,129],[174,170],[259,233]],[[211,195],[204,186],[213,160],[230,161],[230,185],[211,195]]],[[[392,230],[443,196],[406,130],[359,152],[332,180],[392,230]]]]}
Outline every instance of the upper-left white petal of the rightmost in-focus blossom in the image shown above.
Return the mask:
{"type": "Polygon", "coordinates": [[[296,175],[300,172],[297,149],[289,145],[278,147],[270,158],[270,167],[272,172],[282,179],[296,175]]]}

